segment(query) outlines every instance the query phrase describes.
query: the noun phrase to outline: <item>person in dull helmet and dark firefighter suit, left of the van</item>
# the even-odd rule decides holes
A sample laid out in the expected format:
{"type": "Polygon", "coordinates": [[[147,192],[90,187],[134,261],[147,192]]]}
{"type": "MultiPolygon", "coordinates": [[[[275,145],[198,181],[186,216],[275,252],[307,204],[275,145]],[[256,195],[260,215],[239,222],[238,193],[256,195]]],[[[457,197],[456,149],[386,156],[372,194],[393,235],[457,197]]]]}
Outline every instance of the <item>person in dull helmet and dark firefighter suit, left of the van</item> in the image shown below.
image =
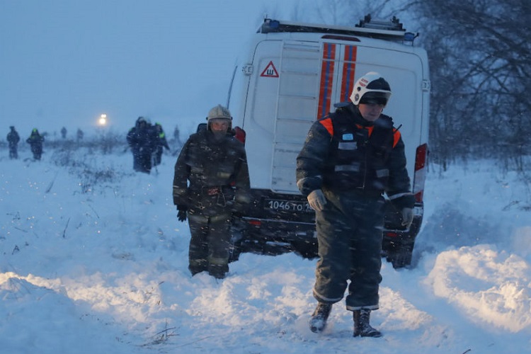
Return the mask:
{"type": "Polygon", "coordinates": [[[244,144],[234,138],[232,116],[222,105],[207,116],[207,129],[190,135],[175,164],[173,203],[190,226],[188,268],[217,279],[229,271],[233,212],[244,211],[249,197],[244,144]]]}

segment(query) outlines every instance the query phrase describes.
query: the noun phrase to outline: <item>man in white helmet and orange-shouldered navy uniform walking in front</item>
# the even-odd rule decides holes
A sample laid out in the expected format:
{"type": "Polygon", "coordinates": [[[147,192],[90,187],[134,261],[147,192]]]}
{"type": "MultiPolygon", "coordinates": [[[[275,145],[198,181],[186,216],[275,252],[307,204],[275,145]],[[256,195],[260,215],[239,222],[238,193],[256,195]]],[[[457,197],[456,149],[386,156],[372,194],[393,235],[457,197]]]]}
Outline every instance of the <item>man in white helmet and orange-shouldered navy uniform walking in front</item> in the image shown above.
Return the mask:
{"type": "Polygon", "coordinates": [[[319,244],[313,289],[318,303],[309,321],[314,332],[325,329],[332,304],[348,287],[354,336],[382,336],[370,326],[382,281],[382,193],[401,210],[405,228],[415,203],[404,142],[392,118],[382,114],[390,97],[382,76],[365,74],[348,105],[314,122],[297,156],[297,186],[315,210],[319,244]]]}

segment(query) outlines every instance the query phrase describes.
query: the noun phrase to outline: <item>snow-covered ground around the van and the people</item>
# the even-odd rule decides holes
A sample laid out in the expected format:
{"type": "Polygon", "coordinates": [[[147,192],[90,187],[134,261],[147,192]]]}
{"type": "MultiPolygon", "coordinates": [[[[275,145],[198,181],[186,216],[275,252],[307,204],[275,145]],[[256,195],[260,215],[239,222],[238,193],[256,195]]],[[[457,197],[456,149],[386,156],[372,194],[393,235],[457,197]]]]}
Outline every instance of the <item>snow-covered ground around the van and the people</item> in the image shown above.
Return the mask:
{"type": "Polygon", "coordinates": [[[415,267],[382,268],[384,337],[353,338],[343,302],[309,331],[315,260],[244,253],[190,278],[175,157],[147,176],[129,154],[7,154],[1,353],[531,353],[531,193],[491,161],[430,166],[415,267]]]}

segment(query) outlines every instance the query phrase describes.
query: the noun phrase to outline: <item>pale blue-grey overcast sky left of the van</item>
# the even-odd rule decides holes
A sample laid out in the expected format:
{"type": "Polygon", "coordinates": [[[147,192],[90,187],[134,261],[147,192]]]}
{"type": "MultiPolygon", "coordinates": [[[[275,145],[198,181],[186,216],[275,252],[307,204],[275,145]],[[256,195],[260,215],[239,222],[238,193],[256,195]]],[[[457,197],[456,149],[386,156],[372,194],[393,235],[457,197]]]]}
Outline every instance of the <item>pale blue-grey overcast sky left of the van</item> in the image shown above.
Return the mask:
{"type": "Polygon", "coordinates": [[[227,90],[237,53],[296,0],[0,0],[0,118],[33,127],[127,131],[139,115],[190,130],[227,90]],[[282,5],[280,5],[282,4],[282,5]]]}

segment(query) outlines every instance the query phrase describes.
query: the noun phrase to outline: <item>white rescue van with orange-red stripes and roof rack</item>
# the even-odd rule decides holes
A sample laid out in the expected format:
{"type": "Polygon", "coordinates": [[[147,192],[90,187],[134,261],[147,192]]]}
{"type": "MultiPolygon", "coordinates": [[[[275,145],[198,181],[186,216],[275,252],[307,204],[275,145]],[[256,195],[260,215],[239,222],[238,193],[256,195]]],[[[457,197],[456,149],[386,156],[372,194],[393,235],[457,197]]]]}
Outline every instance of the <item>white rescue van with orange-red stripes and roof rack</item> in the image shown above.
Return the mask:
{"type": "Polygon", "coordinates": [[[316,256],[314,211],[295,179],[297,154],[312,123],[347,102],[355,81],[375,71],[391,85],[384,113],[406,144],[416,195],[409,229],[387,203],[382,255],[395,268],[411,263],[423,217],[430,93],[428,57],[414,38],[396,18],[366,16],[353,27],[265,19],[235,71],[228,100],[236,137],[246,145],[254,198],[234,222],[237,239],[289,242],[303,256],[316,256]]]}

